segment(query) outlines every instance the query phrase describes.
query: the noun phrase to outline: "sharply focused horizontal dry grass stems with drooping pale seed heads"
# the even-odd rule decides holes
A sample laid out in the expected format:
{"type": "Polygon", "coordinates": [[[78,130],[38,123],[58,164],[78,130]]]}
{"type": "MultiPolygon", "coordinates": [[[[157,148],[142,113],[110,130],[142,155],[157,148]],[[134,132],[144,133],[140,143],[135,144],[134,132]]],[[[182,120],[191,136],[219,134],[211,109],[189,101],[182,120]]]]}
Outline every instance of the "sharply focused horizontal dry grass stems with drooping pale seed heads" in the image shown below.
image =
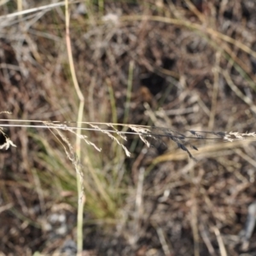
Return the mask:
{"type": "MultiPolygon", "coordinates": [[[[96,123],[96,122],[81,122],[81,125],[88,125],[89,127],[79,127],[79,126],[70,126],[71,124],[77,124],[77,122],[49,122],[49,121],[40,121],[40,120],[15,120],[15,119],[0,119],[0,121],[13,121],[13,122],[38,122],[42,123],[42,125],[15,125],[15,124],[0,124],[1,127],[11,127],[11,126],[20,126],[20,127],[37,127],[37,128],[49,128],[55,129],[56,131],[69,131],[73,133],[76,137],[84,140],[88,145],[96,148],[97,151],[101,152],[102,148],[98,148],[95,143],[90,142],[89,137],[84,136],[82,134],[77,133],[77,130],[81,131],[98,131],[106,134],[110,137],[115,143],[119,144],[124,151],[125,154],[130,157],[131,153],[125,147],[124,143],[120,142],[118,137],[114,137],[113,134],[118,135],[122,140],[126,141],[125,135],[137,135],[140,139],[145,143],[148,147],[152,146],[152,143],[149,143],[147,137],[151,137],[153,140],[162,142],[164,137],[169,138],[174,143],[177,144],[177,148],[182,149],[189,155],[189,158],[195,160],[193,154],[190,152],[189,148],[195,149],[198,151],[197,146],[194,143],[190,143],[189,140],[206,140],[206,141],[214,141],[219,140],[223,142],[235,142],[235,141],[254,141],[256,138],[255,132],[238,132],[238,131],[194,131],[187,130],[183,133],[180,131],[176,131],[171,128],[166,127],[156,127],[156,126],[147,126],[147,125],[131,125],[131,124],[113,124],[113,123],[96,123]],[[70,125],[68,125],[70,124],[70,125]],[[106,125],[111,129],[104,129],[101,125],[106,125]],[[114,125],[119,125],[131,129],[131,131],[119,131],[114,128],[114,125]],[[189,147],[189,148],[188,148],[189,147]]],[[[1,129],[3,133],[3,128],[1,129]]],[[[6,135],[5,135],[6,136],[6,135]]],[[[15,146],[9,138],[7,137],[6,143],[2,145],[2,148],[9,148],[9,146],[15,146]]]]}

